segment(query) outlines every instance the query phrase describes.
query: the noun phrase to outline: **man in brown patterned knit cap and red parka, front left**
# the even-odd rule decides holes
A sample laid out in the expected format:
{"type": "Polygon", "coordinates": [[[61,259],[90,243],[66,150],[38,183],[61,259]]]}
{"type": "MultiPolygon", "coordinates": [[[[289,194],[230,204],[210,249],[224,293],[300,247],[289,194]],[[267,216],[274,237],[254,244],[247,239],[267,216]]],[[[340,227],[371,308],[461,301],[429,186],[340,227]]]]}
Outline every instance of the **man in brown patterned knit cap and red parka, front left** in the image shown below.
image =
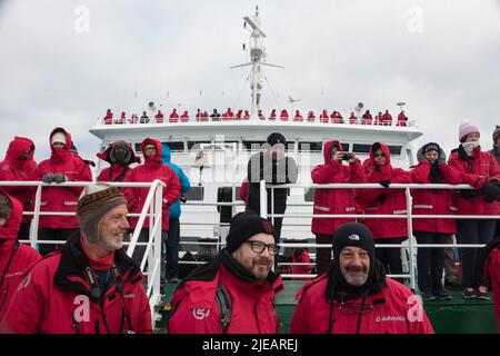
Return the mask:
{"type": "Polygon", "coordinates": [[[24,273],[0,333],[152,333],[143,276],[122,249],[127,215],[119,188],[86,187],[77,207],[81,234],[24,273]]]}

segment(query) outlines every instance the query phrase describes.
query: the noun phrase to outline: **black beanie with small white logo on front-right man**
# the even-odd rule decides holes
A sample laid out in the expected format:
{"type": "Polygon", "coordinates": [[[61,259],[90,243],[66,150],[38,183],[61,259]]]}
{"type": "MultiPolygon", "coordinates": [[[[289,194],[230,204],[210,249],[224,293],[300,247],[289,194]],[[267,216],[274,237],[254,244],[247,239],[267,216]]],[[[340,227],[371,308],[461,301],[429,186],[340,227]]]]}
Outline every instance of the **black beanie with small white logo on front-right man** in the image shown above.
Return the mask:
{"type": "Polygon", "coordinates": [[[347,246],[364,249],[370,256],[370,269],[376,261],[373,235],[367,226],[359,222],[347,222],[337,229],[333,236],[333,260],[340,260],[340,253],[347,246]]]}

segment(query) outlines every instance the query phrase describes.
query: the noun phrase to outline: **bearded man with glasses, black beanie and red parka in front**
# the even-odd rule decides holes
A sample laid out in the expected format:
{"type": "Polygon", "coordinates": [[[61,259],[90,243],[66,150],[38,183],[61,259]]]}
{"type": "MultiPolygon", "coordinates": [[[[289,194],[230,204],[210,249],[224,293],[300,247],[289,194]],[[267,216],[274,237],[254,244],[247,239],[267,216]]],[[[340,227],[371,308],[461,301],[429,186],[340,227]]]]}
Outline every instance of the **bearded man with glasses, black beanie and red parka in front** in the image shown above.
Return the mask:
{"type": "Polygon", "coordinates": [[[276,334],[273,305],[283,289],[271,270],[278,254],[272,225],[252,211],[236,215],[227,246],[179,285],[170,334],[276,334]]]}

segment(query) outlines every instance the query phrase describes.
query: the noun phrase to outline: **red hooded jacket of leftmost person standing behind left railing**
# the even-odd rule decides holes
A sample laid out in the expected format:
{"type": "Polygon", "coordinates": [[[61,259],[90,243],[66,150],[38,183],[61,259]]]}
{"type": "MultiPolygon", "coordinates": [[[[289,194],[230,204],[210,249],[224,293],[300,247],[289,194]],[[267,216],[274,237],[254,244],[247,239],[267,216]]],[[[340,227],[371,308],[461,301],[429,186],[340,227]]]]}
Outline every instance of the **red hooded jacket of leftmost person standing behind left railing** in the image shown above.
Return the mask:
{"type": "MultiPolygon", "coordinates": [[[[37,162],[33,159],[34,144],[26,137],[14,137],[7,149],[6,159],[0,162],[0,180],[30,180],[37,169],[37,162]],[[28,159],[24,154],[30,149],[28,159]]],[[[36,190],[29,187],[3,187],[3,191],[18,199],[24,211],[33,210],[33,195],[36,190]]],[[[31,221],[30,216],[23,216],[22,222],[31,221]]]]}

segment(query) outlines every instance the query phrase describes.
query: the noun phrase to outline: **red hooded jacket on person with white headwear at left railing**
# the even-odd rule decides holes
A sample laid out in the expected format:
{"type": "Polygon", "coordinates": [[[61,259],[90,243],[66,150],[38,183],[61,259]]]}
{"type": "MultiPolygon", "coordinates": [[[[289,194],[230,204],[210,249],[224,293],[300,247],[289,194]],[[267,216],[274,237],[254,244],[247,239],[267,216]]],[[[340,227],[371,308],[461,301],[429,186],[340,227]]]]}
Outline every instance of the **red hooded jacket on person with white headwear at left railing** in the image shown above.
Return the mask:
{"type": "MultiPolygon", "coordinates": [[[[89,166],[78,155],[71,152],[71,135],[63,128],[58,127],[52,130],[50,137],[58,131],[66,135],[64,147],[57,151],[50,145],[49,139],[52,155],[38,165],[32,179],[41,180],[46,174],[63,174],[71,181],[91,181],[92,172],[89,166]]],[[[52,182],[42,190],[40,211],[74,212],[82,190],[83,187],[58,187],[57,184],[52,182]]],[[[72,216],[40,216],[39,226],[48,229],[76,229],[80,227],[77,217],[72,216]]]]}

